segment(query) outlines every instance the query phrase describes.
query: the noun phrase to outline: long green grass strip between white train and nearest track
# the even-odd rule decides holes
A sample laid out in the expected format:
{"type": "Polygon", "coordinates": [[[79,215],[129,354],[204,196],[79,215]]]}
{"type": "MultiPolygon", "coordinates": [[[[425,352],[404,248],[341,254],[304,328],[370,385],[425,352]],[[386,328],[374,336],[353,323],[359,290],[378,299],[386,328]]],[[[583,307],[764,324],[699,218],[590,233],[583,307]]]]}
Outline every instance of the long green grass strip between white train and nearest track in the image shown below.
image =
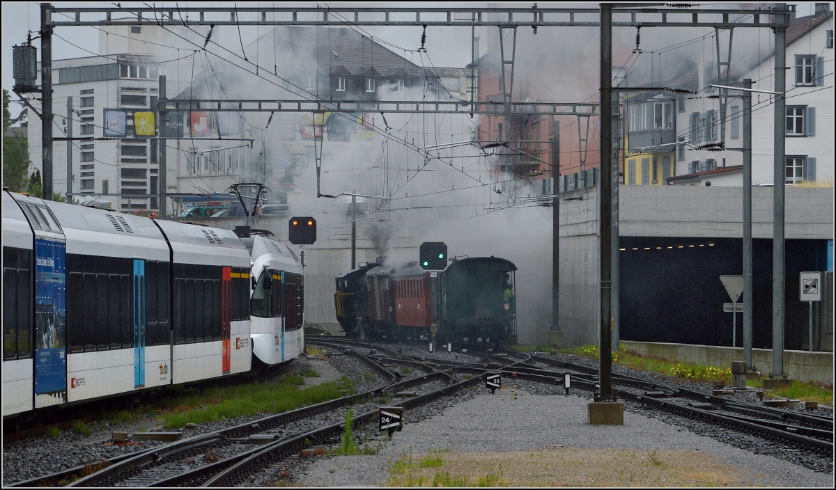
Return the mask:
{"type": "Polygon", "coordinates": [[[178,396],[166,400],[163,427],[186,427],[187,423],[218,422],[233,417],[257,413],[282,413],[344,396],[341,390],[354,393],[349,378],[341,379],[344,386],[334,382],[304,386],[299,376],[283,376],[274,383],[240,386],[216,386],[206,389],[183,387],[178,396]]]}

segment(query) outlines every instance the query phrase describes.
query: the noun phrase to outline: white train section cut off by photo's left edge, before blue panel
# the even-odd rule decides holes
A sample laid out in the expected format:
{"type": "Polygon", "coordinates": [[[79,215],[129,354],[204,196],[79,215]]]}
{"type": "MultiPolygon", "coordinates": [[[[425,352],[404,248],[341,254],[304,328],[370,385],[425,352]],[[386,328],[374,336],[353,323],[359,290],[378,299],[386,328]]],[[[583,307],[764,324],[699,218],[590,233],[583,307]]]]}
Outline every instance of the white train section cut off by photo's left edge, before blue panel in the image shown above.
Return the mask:
{"type": "Polygon", "coordinates": [[[33,254],[29,222],[3,192],[3,417],[33,408],[33,254]]]}

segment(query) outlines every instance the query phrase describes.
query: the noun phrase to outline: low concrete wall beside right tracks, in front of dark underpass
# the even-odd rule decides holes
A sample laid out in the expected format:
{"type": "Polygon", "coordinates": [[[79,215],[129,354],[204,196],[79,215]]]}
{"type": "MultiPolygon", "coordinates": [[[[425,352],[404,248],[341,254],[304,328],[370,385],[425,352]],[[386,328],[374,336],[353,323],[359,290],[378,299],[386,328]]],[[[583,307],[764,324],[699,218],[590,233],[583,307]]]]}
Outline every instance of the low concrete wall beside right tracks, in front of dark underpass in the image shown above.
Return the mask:
{"type": "MultiPolygon", "coordinates": [[[[660,357],[668,361],[732,366],[732,361],[743,361],[743,349],[738,347],[693,346],[657,342],[621,341],[624,349],[642,356],[660,357]]],[[[833,352],[784,351],[784,370],[790,378],[813,381],[822,386],[833,386],[833,352]]],[[[772,367],[772,349],[752,349],[752,365],[763,376],[772,367]]]]}

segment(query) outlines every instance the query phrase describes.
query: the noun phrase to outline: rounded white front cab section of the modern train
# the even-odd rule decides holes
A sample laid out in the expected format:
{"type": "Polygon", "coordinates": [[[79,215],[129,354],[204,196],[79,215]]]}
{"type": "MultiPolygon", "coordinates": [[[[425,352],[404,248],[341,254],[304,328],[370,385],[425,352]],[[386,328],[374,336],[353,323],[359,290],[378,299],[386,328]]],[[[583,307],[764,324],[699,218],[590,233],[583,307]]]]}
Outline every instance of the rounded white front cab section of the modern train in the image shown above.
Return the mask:
{"type": "Polygon", "coordinates": [[[304,350],[302,265],[269,232],[241,240],[252,256],[252,354],[268,366],[290,361],[304,350]]]}

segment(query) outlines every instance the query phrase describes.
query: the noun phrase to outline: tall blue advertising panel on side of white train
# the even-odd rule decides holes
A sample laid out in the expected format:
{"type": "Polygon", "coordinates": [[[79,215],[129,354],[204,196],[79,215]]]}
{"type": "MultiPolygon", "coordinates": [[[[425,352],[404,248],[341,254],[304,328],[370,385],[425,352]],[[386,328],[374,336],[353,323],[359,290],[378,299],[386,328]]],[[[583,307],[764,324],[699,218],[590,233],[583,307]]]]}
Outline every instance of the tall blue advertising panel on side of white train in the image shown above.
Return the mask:
{"type": "Polygon", "coordinates": [[[35,239],[35,407],[67,401],[66,248],[35,239]]]}

